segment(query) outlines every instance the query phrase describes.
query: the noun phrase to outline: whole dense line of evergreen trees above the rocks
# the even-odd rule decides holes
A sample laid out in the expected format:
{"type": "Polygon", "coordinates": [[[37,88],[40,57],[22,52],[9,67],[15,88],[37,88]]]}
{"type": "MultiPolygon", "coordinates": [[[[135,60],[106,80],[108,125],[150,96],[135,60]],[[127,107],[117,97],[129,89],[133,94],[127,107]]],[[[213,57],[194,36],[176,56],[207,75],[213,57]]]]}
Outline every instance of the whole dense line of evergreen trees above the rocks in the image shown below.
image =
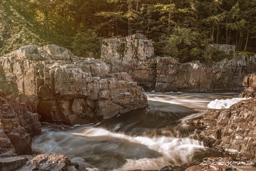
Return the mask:
{"type": "MultiPolygon", "coordinates": [[[[1,0],[0,53],[57,44],[81,57],[103,37],[145,34],[156,55],[205,60],[210,43],[256,49],[256,0],[1,0]],[[206,53],[207,52],[207,53],[206,53]]],[[[222,58],[221,55],[220,58],[222,58]]],[[[219,60],[220,58],[216,58],[219,60]]]]}

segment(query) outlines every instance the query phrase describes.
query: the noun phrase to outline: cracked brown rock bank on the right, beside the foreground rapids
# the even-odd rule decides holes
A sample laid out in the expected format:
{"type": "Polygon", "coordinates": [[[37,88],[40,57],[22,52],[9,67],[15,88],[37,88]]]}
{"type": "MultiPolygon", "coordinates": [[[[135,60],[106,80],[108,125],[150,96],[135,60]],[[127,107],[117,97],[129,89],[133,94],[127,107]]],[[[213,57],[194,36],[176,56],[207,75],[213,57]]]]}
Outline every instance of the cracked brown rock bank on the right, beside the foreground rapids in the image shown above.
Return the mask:
{"type": "Polygon", "coordinates": [[[198,127],[196,135],[210,147],[242,153],[255,160],[256,99],[243,100],[229,109],[208,110],[189,121],[198,127]]]}

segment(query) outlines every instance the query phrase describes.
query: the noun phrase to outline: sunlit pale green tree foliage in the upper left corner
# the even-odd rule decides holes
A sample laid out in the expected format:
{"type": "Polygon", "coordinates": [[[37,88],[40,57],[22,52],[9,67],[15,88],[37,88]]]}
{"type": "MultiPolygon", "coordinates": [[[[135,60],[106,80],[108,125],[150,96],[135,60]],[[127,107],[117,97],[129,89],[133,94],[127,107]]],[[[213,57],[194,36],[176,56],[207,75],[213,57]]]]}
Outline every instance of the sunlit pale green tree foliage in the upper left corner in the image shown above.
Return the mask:
{"type": "Polygon", "coordinates": [[[0,55],[25,45],[41,45],[40,25],[28,1],[0,3],[0,55]],[[26,11],[26,13],[24,12],[26,11]]]}

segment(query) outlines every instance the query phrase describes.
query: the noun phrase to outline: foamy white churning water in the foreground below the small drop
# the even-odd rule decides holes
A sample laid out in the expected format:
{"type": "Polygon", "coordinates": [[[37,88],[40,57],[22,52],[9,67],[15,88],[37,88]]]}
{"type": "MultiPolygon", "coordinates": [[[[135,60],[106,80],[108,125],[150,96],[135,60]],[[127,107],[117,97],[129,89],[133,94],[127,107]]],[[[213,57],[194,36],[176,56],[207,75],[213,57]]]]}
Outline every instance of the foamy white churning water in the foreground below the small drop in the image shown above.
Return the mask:
{"type": "Polygon", "coordinates": [[[40,153],[60,153],[94,170],[159,169],[193,162],[195,152],[205,150],[197,140],[175,137],[131,136],[98,127],[71,131],[44,130],[33,142],[40,153]]]}

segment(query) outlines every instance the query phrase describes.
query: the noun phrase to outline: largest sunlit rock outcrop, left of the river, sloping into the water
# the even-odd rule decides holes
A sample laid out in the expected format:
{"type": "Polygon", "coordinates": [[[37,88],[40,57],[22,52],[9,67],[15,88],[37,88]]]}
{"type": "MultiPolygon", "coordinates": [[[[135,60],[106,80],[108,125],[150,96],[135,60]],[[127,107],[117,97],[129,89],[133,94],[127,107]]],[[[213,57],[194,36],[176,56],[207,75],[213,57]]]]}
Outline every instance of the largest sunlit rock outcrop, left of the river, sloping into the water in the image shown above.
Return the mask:
{"type": "Polygon", "coordinates": [[[34,108],[47,121],[92,123],[147,105],[127,73],[110,74],[105,63],[78,58],[56,45],[22,47],[0,63],[20,93],[39,99],[34,108]]]}

